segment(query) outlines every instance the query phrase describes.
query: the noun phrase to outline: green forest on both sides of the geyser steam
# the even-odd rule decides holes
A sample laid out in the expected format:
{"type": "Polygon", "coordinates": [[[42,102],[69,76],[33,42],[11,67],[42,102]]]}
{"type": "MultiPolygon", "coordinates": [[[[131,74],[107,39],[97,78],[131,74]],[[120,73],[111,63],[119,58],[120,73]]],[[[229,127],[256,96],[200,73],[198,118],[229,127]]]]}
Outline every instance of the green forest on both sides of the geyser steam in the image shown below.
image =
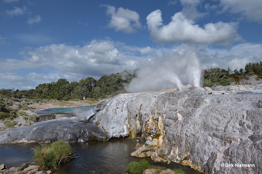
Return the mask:
{"type": "MultiPolygon", "coordinates": [[[[119,93],[126,93],[124,86],[136,77],[136,69],[133,74],[128,71],[113,73],[102,76],[99,80],[92,77],[81,79],[79,82],[68,82],[66,79],[59,79],[57,82],[39,84],[36,89],[0,89],[0,95],[12,96],[15,98],[48,99],[48,100],[71,100],[82,99],[101,100],[119,93]]],[[[202,70],[202,86],[212,87],[216,85],[257,84],[262,78],[262,62],[248,63],[245,69],[231,70],[220,68],[208,68],[202,70]]]]}

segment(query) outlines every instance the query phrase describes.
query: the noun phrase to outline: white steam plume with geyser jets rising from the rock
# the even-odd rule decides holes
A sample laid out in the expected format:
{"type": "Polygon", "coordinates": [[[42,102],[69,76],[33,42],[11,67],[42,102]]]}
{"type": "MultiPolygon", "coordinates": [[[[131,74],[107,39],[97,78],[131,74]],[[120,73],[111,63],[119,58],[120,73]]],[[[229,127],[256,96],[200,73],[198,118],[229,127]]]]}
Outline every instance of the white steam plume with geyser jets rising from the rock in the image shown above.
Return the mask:
{"type": "Polygon", "coordinates": [[[200,86],[201,68],[194,48],[173,50],[162,58],[149,60],[137,77],[126,86],[127,92],[156,91],[200,86]]]}

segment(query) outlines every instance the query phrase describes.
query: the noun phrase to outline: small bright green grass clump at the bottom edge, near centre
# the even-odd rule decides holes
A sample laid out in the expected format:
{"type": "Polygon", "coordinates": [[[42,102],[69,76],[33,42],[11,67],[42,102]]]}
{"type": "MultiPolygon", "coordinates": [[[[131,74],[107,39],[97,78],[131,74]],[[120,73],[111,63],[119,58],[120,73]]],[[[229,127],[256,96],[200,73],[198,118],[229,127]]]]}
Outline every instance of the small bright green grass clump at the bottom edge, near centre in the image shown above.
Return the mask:
{"type": "Polygon", "coordinates": [[[150,164],[148,163],[148,161],[143,159],[140,162],[133,161],[127,164],[126,171],[131,174],[142,174],[143,171],[145,171],[149,167],[150,167],[150,164]]]}

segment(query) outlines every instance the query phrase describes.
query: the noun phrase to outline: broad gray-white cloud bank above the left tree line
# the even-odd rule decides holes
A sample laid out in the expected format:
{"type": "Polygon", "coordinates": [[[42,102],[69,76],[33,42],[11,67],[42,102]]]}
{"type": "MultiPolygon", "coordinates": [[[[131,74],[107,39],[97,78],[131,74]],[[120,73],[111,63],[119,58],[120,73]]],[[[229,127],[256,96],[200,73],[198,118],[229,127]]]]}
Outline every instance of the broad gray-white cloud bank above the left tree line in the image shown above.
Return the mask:
{"type": "MultiPolygon", "coordinates": [[[[127,70],[133,71],[137,66],[138,57],[127,54],[124,47],[117,49],[109,40],[87,43],[85,46],[69,46],[51,44],[31,51],[23,51],[23,67],[53,69],[59,77],[67,80],[79,80],[88,76],[100,78],[105,74],[127,70]]],[[[8,59],[10,66],[15,62],[8,59]]],[[[14,68],[14,67],[12,67],[14,68]]]]}

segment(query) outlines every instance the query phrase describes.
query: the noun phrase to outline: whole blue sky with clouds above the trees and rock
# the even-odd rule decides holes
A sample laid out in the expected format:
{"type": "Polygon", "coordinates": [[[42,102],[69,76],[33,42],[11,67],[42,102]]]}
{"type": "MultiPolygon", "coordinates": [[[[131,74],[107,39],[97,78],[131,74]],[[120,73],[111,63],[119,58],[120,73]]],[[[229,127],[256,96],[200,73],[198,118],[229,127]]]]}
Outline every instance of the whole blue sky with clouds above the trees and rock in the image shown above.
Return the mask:
{"type": "Polygon", "coordinates": [[[0,0],[0,89],[136,68],[147,86],[239,71],[262,61],[261,9],[261,0],[0,0]]]}

